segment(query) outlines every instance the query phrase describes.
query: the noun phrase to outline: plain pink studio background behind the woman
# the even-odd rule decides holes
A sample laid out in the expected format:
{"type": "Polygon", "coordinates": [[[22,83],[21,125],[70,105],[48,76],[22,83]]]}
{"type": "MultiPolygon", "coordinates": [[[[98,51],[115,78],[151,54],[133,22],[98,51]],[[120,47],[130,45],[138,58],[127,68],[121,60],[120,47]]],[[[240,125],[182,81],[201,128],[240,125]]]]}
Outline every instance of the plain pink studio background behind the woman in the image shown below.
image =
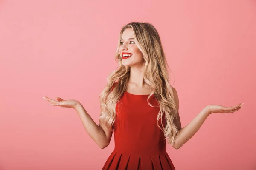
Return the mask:
{"type": "Polygon", "coordinates": [[[256,0],[0,0],[0,170],[103,167],[114,136],[100,149],[75,110],[42,97],[79,100],[98,124],[119,31],[131,21],[160,34],[182,127],[206,105],[244,102],[210,115],[180,149],[168,145],[176,169],[256,169],[256,0]]]}

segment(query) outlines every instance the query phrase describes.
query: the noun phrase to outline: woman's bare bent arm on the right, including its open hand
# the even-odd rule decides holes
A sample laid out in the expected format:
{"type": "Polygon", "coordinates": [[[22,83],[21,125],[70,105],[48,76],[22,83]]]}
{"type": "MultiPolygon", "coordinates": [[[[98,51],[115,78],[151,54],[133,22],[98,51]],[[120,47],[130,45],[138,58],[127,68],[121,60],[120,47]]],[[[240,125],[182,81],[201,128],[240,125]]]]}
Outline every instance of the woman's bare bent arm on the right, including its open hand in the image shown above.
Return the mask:
{"type": "Polygon", "coordinates": [[[181,128],[181,124],[179,120],[180,116],[178,114],[179,98],[175,88],[173,88],[173,92],[174,92],[173,94],[175,98],[175,105],[177,106],[177,121],[175,122],[175,125],[179,129],[177,139],[175,140],[175,143],[172,145],[172,147],[174,147],[175,149],[179,149],[190,138],[192,138],[192,136],[195,135],[195,133],[203,125],[205,119],[211,113],[232,113],[241,109],[242,108],[241,105],[243,105],[243,103],[240,103],[238,105],[231,106],[231,107],[224,107],[221,105],[207,105],[206,107],[203,108],[203,110],[200,113],[198,113],[197,116],[195,116],[195,118],[191,122],[189,122],[189,124],[181,128]]]}

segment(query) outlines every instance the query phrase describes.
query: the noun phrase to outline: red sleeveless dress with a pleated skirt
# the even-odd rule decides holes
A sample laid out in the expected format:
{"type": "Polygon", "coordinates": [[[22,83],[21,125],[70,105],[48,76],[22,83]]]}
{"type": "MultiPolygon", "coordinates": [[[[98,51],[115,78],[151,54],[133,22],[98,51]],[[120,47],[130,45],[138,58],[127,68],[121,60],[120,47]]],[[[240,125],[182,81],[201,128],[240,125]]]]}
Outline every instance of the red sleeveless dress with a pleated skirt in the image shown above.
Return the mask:
{"type": "MultiPolygon", "coordinates": [[[[113,124],[115,148],[102,170],[175,170],[157,126],[160,108],[148,105],[148,96],[125,91],[120,97],[113,124]]],[[[154,95],[149,102],[158,106],[154,95]]],[[[158,124],[162,126],[161,119],[158,124]]]]}

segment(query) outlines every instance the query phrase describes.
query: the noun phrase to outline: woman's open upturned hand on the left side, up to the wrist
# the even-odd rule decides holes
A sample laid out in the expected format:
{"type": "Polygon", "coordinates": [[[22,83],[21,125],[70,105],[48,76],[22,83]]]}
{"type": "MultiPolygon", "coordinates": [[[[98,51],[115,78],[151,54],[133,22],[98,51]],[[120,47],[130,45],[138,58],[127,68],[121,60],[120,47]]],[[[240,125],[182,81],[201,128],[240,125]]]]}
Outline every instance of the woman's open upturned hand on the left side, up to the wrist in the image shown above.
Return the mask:
{"type": "Polygon", "coordinates": [[[46,99],[48,102],[51,102],[51,104],[49,105],[53,105],[53,106],[60,106],[60,107],[64,107],[64,108],[73,108],[76,109],[76,107],[80,104],[79,101],[74,100],[74,99],[68,99],[68,100],[64,100],[61,99],[60,97],[57,97],[57,101],[56,100],[52,100],[49,97],[43,97],[44,99],[46,99]]]}

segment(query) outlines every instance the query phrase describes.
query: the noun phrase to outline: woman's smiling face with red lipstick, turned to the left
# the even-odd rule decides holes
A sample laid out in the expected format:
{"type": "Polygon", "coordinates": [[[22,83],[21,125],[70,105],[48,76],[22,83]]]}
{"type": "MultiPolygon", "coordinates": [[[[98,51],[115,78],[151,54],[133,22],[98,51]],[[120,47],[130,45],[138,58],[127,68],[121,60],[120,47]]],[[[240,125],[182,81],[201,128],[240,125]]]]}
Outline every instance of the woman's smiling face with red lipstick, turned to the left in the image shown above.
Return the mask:
{"type": "Polygon", "coordinates": [[[120,41],[119,54],[122,57],[124,66],[143,65],[143,54],[137,47],[138,42],[134,40],[132,28],[127,28],[122,34],[120,41]],[[126,56],[124,56],[126,54],[126,56]],[[128,56],[127,56],[128,54],[128,56]]]}

